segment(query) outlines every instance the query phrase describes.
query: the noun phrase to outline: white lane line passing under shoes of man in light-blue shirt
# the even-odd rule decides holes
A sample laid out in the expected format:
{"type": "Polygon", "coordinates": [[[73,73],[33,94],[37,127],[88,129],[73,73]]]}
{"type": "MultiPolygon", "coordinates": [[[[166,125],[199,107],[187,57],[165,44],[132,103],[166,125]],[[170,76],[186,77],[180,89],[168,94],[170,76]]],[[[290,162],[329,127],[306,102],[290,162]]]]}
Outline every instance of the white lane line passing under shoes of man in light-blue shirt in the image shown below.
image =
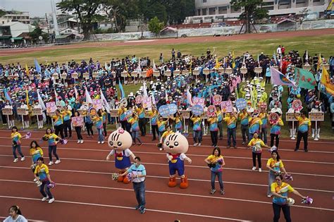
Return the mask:
{"type": "MultiPolygon", "coordinates": [[[[107,188],[107,187],[106,187],[107,188]]],[[[133,190],[132,190],[133,192],[133,190]]],[[[10,199],[26,199],[26,200],[35,200],[35,201],[41,201],[40,199],[37,198],[30,198],[30,197],[11,197],[11,196],[0,196],[0,198],[10,198],[10,199]]],[[[93,203],[85,203],[85,202],[70,202],[70,201],[65,201],[65,200],[58,200],[56,199],[54,202],[58,203],[64,203],[64,204],[80,204],[80,205],[87,205],[87,206],[104,206],[104,207],[109,207],[109,208],[120,208],[120,209],[131,209],[133,210],[133,207],[130,206],[116,206],[116,205],[108,205],[108,204],[93,204],[93,203]]],[[[178,214],[178,215],[185,215],[185,216],[197,216],[197,217],[203,217],[203,218],[214,218],[214,219],[219,219],[219,220],[228,220],[228,221],[245,221],[245,220],[240,220],[236,218],[226,218],[226,217],[221,217],[221,216],[210,216],[210,215],[203,215],[203,214],[190,214],[190,213],[185,213],[185,212],[173,212],[173,211],[163,211],[159,209],[146,209],[147,211],[153,211],[153,212],[159,212],[159,213],[165,213],[165,214],[178,214]]]]}

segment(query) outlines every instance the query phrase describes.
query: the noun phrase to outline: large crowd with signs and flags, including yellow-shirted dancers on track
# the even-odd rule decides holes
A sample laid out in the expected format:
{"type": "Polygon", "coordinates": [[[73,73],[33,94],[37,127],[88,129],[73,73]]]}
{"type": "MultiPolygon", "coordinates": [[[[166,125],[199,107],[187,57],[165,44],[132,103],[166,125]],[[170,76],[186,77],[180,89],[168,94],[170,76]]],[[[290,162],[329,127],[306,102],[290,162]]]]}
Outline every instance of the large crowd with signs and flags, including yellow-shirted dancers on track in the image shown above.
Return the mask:
{"type": "MultiPolygon", "coordinates": [[[[315,140],[320,138],[321,121],[317,121],[315,126],[315,122],[307,118],[307,113],[333,116],[333,94],[321,85],[321,69],[326,63],[333,84],[333,57],[326,61],[323,56],[309,57],[307,51],[302,55],[299,51],[287,51],[283,46],[279,46],[273,56],[262,52],[257,58],[248,51],[241,56],[231,52],[220,58],[210,49],[202,56],[185,55],[173,49],[171,59],[165,61],[161,54],[157,63],[149,56],[137,58],[133,55],[112,58],[104,64],[92,58],[81,62],[36,63],[34,67],[20,63],[0,64],[1,121],[12,130],[14,162],[18,161],[16,151],[21,156],[20,161],[25,161],[20,150],[22,136],[18,125],[32,128],[31,123],[37,123],[37,128],[44,128],[46,124],[43,140],[49,143],[49,166],[61,163],[56,153],[57,141],[72,138],[73,128],[78,144],[84,142],[82,130],[87,131],[87,137],[94,137],[97,132],[97,142],[104,144],[109,124],[130,132],[133,144],[138,145],[142,144],[140,136],[148,132],[153,135],[152,140],[162,144],[171,132],[179,131],[185,135],[192,132],[193,145],[201,146],[203,135],[210,133],[214,152],[205,161],[211,164],[211,195],[216,191],[216,176],[221,194],[225,193],[221,175],[225,161],[218,147],[237,148],[240,144],[237,144],[236,135],[240,130],[242,145],[252,148],[253,171],[258,168],[261,172],[262,148],[276,147],[266,167],[271,172],[267,195],[274,196],[274,221],[278,221],[281,208],[285,218],[290,217],[290,211],[282,206],[283,200],[287,199],[286,192],[299,195],[290,185],[288,190],[278,192],[286,184],[277,173],[283,171],[287,174],[277,151],[280,133],[284,125],[288,125],[292,140],[297,133],[295,151],[302,139],[304,151],[309,150],[307,140],[310,133],[315,140]],[[279,70],[287,80],[295,81],[295,69],[305,67],[315,77],[314,89],[271,84],[271,68],[279,70]],[[126,95],[123,87],[128,85],[140,85],[139,90],[126,95]],[[297,109],[295,101],[301,101],[305,108],[302,111],[297,109]],[[164,106],[171,104],[177,107],[174,113],[161,113],[164,106]],[[202,110],[198,113],[192,109],[194,106],[201,106],[202,110]],[[35,113],[36,109],[41,112],[35,113]],[[285,113],[290,113],[292,120],[283,121],[285,113]],[[225,136],[225,130],[228,142],[222,144],[219,141],[225,136]],[[53,156],[56,157],[55,162],[53,156]]],[[[162,149],[161,146],[159,148],[162,149]]],[[[32,161],[35,179],[42,176],[42,200],[49,199],[51,203],[54,201],[49,190],[52,181],[41,150],[33,141],[30,154],[36,155],[32,161]]]]}

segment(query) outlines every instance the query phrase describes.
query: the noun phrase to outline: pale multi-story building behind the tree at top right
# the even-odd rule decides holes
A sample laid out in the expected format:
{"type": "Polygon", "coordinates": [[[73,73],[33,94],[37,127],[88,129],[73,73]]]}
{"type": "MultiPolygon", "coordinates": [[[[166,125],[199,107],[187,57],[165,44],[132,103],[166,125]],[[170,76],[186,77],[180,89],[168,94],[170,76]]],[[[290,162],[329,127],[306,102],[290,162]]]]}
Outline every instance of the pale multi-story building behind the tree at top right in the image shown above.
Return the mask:
{"type": "MultiPolygon", "coordinates": [[[[242,10],[235,11],[230,0],[194,0],[196,16],[185,18],[185,23],[213,23],[225,19],[237,19],[242,10]]],[[[307,8],[312,13],[326,10],[331,0],[264,0],[262,8],[268,9],[269,16],[285,16],[301,13],[307,8]]]]}

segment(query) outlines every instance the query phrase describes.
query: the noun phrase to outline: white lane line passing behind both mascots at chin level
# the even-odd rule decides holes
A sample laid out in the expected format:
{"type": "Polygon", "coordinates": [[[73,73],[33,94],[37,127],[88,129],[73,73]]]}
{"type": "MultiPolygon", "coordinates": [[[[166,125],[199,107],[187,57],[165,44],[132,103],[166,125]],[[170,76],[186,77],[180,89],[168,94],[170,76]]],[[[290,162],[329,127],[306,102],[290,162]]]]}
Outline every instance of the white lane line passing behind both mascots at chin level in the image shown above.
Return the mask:
{"type": "MultiPolygon", "coordinates": [[[[11,147],[10,145],[0,145],[0,147],[11,147]]],[[[27,146],[21,146],[21,148],[29,148],[27,146]]],[[[79,148],[73,148],[73,147],[57,147],[57,149],[64,149],[64,150],[80,150],[80,151],[92,151],[92,152],[110,152],[110,149],[79,149],[79,148]]],[[[249,149],[250,150],[250,149],[249,149]]],[[[137,152],[132,151],[136,154],[157,154],[157,155],[165,155],[164,152],[137,152]]],[[[201,155],[201,154],[187,154],[187,156],[203,156],[207,157],[208,155],[201,155]]],[[[242,157],[242,156],[224,156],[224,158],[231,158],[231,159],[252,159],[251,157],[242,157]]],[[[334,163],[329,162],[317,162],[317,161],[298,161],[298,160],[292,160],[292,159],[284,159],[284,162],[296,162],[296,163],[303,163],[303,164],[330,164],[334,165],[334,163]]]]}

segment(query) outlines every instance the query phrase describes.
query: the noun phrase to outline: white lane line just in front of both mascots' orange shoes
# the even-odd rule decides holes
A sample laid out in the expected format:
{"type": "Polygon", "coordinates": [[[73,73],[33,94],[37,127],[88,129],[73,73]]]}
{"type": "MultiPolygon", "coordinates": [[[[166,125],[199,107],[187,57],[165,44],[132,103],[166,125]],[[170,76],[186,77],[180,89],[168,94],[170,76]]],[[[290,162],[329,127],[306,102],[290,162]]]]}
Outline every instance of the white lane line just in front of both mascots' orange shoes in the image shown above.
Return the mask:
{"type": "MultiPolygon", "coordinates": [[[[0,180],[0,181],[14,182],[14,183],[34,183],[31,181],[25,181],[25,180],[0,180]]],[[[66,184],[66,183],[57,183],[57,185],[64,185],[64,186],[69,186],[69,187],[87,187],[87,188],[96,188],[96,189],[104,189],[104,190],[124,190],[124,191],[133,192],[133,189],[125,189],[125,188],[119,188],[119,187],[100,187],[100,186],[75,185],[75,184],[66,184]]],[[[199,197],[199,198],[208,198],[208,199],[227,199],[227,200],[232,200],[232,201],[237,201],[237,202],[239,201],[239,202],[253,202],[253,203],[259,203],[259,204],[272,204],[272,202],[257,201],[257,200],[252,200],[252,199],[236,199],[236,198],[229,198],[229,197],[192,195],[192,194],[185,194],[185,193],[179,193],[179,192],[162,192],[162,191],[154,191],[154,190],[145,190],[145,192],[151,192],[151,193],[163,194],[163,195],[177,195],[177,196],[199,197]]],[[[293,205],[293,206],[303,207],[303,208],[308,208],[308,209],[319,209],[319,210],[324,210],[324,211],[334,211],[334,209],[326,209],[326,208],[313,207],[313,206],[302,206],[302,205],[293,205]]]]}

